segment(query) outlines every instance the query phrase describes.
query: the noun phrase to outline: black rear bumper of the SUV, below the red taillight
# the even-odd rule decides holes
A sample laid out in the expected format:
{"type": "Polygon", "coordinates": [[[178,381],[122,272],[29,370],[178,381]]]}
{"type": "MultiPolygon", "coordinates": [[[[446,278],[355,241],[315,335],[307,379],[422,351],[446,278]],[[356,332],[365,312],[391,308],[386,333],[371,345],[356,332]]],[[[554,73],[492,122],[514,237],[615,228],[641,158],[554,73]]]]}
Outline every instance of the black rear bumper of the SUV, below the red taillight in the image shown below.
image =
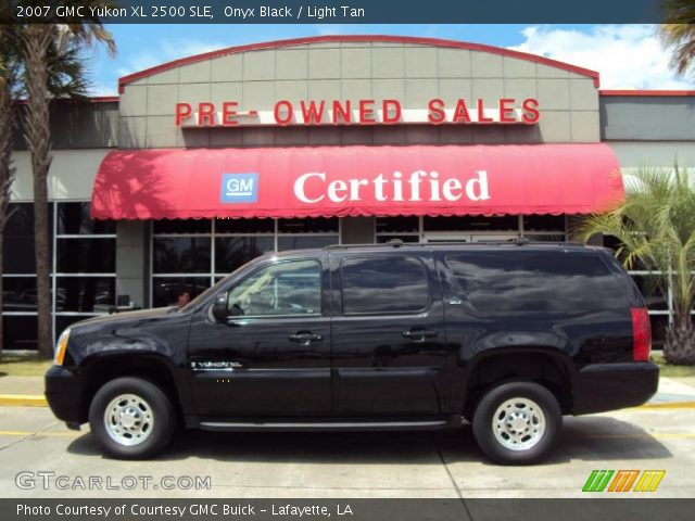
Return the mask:
{"type": "Polygon", "coordinates": [[[650,361],[592,364],[577,373],[574,415],[635,407],[659,387],[659,367],[650,361]]]}

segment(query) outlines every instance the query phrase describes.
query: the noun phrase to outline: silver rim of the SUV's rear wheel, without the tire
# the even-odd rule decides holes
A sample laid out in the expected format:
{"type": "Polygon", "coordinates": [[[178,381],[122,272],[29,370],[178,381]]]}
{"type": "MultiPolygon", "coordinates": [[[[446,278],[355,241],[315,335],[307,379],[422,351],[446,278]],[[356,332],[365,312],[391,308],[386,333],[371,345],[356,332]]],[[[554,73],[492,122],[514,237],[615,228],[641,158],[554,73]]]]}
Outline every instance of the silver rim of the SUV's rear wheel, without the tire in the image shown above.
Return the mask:
{"type": "Polygon", "coordinates": [[[538,445],[545,428],[543,409],[529,398],[507,399],[492,417],[495,440],[509,450],[528,450],[538,445]]]}

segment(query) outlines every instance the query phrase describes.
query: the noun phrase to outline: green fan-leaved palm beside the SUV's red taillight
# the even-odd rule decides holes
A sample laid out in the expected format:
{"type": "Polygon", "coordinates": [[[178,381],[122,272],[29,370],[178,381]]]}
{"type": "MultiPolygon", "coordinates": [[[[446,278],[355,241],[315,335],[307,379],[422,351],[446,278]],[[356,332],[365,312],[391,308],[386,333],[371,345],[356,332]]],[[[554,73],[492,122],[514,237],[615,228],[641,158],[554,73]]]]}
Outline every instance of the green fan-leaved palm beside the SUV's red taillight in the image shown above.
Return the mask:
{"type": "Polygon", "coordinates": [[[695,188],[685,169],[637,168],[623,175],[626,200],[618,208],[593,215],[581,228],[584,240],[595,233],[616,237],[616,252],[631,268],[641,262],[655,272],[664,294],[672,295],[672,322],[665,358],[695,364],[695,188]]]}

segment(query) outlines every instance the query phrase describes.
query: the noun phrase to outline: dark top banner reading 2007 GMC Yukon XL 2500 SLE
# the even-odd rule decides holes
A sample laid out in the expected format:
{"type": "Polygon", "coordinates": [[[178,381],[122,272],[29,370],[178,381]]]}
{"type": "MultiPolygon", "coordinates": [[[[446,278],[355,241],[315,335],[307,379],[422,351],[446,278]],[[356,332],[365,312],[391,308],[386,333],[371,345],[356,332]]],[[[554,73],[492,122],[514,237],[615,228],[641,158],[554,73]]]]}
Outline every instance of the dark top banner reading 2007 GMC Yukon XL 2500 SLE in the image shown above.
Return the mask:
{"type": "Polygon", "coordinates": [[[509,24],[660,23],[664,0],[4,0],[3,23],[509,24]],[[7,3],[5,3],[7,2],[7,3]],[[93,4],[92,4],[93,5],[93,4]],[[93,11],[92,11],[93,10],[93,11]]]}

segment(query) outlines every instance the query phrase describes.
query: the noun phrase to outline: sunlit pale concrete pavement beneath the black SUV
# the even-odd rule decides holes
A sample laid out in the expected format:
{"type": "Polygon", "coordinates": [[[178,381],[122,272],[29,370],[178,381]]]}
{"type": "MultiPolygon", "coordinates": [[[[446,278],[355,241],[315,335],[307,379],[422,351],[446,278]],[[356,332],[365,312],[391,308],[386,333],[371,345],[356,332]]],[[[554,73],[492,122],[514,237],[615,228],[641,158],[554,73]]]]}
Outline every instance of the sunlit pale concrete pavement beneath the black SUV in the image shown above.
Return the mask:
{"type": "Polygon", "coordinates": [[[48,408],[0,407],[0,497],[585,497],[593,470],[634,469],[666,470],[649,497],[692,498],[694,448],[695,409],[683,406],[566,418],[554,456],[535,467],[490,463],[470,425],[396,433],[181,431],[154,460],[117,461],[99,453],[88,431],[68,431],[48,408]],[[16,483],[22,472],[24,488],[16,483]],[[83,490],[80,480],[89,488],[90,476],[102,480],[101,490],[83,490]],[[208,478],[210,488],[195,490],[187,480],[195,476],[203,487],[208,478]],[[138,485],[129,488],[132,479],[138,485]]]}

